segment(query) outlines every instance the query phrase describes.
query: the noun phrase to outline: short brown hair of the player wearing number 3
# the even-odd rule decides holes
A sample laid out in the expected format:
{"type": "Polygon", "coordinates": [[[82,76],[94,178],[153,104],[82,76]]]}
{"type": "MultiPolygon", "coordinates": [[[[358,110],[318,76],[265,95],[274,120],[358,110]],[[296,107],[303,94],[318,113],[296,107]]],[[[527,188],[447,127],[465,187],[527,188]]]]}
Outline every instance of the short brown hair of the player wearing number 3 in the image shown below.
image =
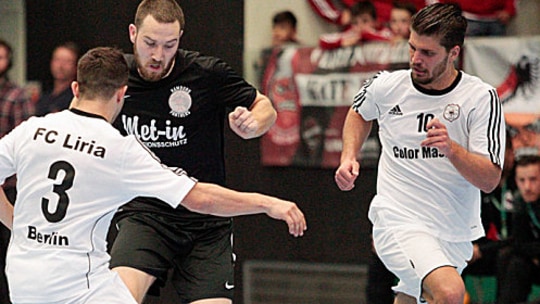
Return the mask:
{"type": "Polygon", "coordinates": [[[77,82],[81,98],[111,98],[127,85],[128,65],[117,48],[97,47],[84,54],[77,64],[77,82]]]}

